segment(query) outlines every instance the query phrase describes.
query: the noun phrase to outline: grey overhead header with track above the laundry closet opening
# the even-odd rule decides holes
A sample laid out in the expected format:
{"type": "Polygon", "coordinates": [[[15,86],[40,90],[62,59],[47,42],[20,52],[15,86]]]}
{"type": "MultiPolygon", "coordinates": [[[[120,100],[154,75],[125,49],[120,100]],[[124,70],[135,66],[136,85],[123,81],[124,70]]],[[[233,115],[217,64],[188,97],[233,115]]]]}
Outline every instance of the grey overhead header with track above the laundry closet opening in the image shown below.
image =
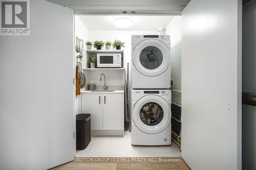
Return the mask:
{"type": "Polygon", "coordinates": [[[74,10],[75,14],[86,15],[181,15],[182,10],[190,0],[131,0],[107,2],[99,1],[72,1],[46,0],[74,10]]]}

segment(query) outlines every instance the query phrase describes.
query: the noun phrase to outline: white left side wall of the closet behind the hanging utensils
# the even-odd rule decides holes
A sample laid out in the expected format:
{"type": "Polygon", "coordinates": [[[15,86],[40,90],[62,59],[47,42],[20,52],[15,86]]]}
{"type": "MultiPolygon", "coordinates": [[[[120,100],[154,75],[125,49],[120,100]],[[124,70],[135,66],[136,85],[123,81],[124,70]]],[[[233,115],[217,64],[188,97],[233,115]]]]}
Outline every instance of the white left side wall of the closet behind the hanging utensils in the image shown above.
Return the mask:
{"type": "MultiPolygon", "coordinates": [[[[83,22],[81,21],[81,19],[75,15],[75,37],[78,37],[80,39],[83,40],[84,42],[84,45],[83,45],[83,56],[82,57],[82,62],[83,64],[86,64],[86,61],[85,60],[85,55],[86,55],[86,44],[85,42],[89,39],[89,30],[87,29],[86,26],[84,26],[83,22]]],[[[75,53],[75,61],[77,60],[76,59],[76,56],[78,55],[78,53],[75,53]]],[[[75,114],[78,114],[80,113],[80,95],[76,95],[76,98],[75,98],[75,114]]]]}

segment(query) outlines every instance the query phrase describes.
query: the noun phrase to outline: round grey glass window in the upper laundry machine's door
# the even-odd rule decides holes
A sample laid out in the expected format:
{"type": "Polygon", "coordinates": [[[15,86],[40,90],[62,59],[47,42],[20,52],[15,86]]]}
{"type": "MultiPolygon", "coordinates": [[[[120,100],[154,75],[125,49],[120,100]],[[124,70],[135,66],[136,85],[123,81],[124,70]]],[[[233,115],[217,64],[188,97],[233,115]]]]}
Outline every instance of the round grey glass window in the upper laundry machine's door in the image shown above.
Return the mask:
{"type": "Polygon", "coordinates": [[[156,69],[163,62],[163,54],[158,47],[147,46],[140,52],[140,63],[146,69],[156,69]]]}

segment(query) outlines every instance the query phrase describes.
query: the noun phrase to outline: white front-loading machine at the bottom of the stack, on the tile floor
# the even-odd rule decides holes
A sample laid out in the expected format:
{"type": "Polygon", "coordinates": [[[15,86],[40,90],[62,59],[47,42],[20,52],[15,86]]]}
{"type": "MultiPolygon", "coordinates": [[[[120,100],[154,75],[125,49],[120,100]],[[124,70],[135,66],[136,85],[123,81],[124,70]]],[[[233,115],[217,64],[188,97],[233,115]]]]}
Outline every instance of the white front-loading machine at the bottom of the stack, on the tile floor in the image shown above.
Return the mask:
{"type": "Polygon", "coordinates": [[[170,90],[132,89],[132,131],[134,145],[168,145],[171,143],[172,113],[170,90]]]}

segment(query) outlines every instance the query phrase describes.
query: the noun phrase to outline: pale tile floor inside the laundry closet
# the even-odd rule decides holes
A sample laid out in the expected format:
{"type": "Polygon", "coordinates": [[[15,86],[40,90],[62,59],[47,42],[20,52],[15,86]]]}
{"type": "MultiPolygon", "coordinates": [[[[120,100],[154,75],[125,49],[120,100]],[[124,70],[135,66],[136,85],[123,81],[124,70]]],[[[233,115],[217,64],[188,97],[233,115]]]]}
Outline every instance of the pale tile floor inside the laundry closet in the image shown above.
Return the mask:
{"type": "Polygon", "coordinates": [[[167,146],[133,146],[131,133],[125,131],[123,137],[91,137],[84,150],[77,151],[76,157],[180,157],[178,145],[172,141],[167,146]]]}

